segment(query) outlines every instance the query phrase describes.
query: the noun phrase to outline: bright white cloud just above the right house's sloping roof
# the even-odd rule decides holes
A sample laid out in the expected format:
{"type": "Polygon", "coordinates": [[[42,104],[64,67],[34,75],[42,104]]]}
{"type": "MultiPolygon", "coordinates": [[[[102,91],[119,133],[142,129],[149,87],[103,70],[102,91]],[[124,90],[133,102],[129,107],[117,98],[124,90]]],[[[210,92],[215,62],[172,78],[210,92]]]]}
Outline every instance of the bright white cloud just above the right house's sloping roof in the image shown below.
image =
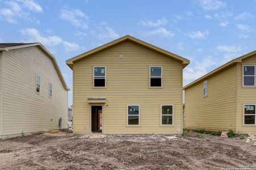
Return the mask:
{"type": "Polygon", "coordinates": [[[194,63],[194,64],[192,66],[188,65],[184,69],[184,74],[183,74],[184,85],[207,74],[209,72],[208,69],[210,67],[216,66],[218,64],[216,59],[213,58],[212,56],[207,56],[202,61],[191,59],[191,63],[194,63]]]}

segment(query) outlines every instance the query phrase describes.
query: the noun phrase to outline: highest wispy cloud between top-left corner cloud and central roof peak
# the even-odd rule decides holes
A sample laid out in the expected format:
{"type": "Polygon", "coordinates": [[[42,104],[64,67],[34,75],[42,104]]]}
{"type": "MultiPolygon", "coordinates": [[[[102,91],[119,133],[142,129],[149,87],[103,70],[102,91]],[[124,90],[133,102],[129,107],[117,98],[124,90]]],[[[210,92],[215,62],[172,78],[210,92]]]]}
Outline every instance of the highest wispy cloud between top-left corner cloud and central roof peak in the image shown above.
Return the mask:
{"type": "Polygon", "coordinates": [[[79,9],[75,10],[61,10],[60,18],[70,22],[77,28],[88,29],[89,17],[79,9]]]}

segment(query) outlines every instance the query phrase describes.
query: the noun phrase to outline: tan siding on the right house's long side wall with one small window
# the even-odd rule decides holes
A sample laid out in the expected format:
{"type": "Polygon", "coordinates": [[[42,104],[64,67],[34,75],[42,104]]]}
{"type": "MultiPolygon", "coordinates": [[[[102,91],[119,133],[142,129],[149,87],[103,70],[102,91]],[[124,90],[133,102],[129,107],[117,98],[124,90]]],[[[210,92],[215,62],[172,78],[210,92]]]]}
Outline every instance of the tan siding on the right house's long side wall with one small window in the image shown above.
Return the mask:
{"type": "Polygon", "coordinates": [[[208,78],[208,96],[203,81],[185,90],[185,128],[236,130],[236,65],[208,78]]]}

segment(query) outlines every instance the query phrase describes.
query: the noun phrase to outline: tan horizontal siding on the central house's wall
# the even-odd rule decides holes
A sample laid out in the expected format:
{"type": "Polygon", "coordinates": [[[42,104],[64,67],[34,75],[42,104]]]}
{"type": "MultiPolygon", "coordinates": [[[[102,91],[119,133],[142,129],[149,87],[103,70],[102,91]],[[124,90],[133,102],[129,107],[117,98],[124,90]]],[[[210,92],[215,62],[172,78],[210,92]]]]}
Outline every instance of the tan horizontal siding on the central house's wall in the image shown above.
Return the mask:
{"type": "Polygon", "coordinates": [[[125,41],[73,64],[73,130],[90,133],[88,97],[106,97],[105,134],[182,133],[182,65],[125,41]],[[123,59],[119,56],[123,55],[123,59]],[[149,86],[149,66],[163,66],[163,88],[149,86]],[[106,88],[92,88],[93,66],[106,66],[106,88]],[[140,105],[140,127],[127,127],[127,105],[140,105]],[[174,126],[160,126],[160,104],[174,104],[174,126]]]}

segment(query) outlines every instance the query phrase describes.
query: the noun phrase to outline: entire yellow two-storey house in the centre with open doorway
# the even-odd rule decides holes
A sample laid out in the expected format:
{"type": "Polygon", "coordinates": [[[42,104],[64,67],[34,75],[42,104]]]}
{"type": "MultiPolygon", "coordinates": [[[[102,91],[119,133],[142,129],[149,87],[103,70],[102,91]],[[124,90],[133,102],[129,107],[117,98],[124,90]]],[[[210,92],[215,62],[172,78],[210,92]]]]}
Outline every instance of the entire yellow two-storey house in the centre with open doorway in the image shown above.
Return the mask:
{"type": "Polygon", "coordinates": [[[188,64],[129,35],[68,59],[73,133],[181,134],[183,68],[188,64]]]}

